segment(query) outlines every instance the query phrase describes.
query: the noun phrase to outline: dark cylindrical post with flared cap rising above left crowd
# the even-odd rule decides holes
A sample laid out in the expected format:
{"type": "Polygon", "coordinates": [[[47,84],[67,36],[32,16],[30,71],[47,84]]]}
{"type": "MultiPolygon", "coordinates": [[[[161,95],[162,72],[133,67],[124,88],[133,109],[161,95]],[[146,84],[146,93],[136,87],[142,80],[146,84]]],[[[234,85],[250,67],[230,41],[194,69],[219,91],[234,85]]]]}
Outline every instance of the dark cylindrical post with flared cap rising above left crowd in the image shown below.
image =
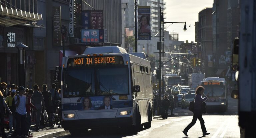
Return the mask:
{"type": "Polygon", "coordinates": [[[19,86],[25,86],[25,61],[24,61],[24,49],[28,48],[28,46],[26,46],[23,43],[20,43],[16,46],[16,48],[18,48],[18,57],[19,57],[19,63],[18,63],[18,73],[19,73],[19,86]]]}

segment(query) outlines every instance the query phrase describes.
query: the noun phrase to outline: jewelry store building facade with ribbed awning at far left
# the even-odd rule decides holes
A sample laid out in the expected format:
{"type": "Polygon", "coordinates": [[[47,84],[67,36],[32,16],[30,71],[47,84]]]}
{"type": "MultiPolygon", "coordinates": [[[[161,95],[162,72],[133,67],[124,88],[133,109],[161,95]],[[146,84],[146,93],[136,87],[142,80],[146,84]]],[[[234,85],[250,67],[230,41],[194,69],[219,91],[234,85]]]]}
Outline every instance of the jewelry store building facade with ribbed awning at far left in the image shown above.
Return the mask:
{"type": "Polygon", "coordinates": [[[0,3],[0,82],[7,85],[25,85],[31,88],[40,72],[40,60],[37,54],[43,51],[45,35],[39,35],[38,30],[45,18],[44,0],[2,0],[0,3]],[[38,6],[41,5],[41,6],[38,6]],[[25,82],[20,82],[18,65],[21,64],[18,56],[18,44],[28,46],[24,53],[25,82]]]}

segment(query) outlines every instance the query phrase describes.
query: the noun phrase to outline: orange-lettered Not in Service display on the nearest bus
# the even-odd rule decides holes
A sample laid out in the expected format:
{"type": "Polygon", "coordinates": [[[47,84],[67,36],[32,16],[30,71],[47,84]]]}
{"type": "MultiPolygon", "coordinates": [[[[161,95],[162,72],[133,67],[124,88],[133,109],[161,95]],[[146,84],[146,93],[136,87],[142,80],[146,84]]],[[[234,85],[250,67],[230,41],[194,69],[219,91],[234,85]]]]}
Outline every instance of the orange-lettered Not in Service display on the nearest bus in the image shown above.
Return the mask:
{"type": "Polygon", "coordinates": [[[122,56],[85,56],[68,59],[68,67],[124,65],[122,56]]]}

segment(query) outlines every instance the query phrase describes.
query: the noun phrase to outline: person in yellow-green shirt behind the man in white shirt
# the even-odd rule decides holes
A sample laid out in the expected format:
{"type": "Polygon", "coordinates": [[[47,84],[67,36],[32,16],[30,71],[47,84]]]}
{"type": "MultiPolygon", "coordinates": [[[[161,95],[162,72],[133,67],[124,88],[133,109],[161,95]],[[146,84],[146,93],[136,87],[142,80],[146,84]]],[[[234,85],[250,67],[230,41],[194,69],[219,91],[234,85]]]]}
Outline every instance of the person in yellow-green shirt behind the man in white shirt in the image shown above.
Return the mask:
{"type": "MultiPolygon", "coordinates": [[[[16,90],[11,90],[11,95],[7,96],[6,99],[5,99],[5,102],[7,103],[7,105],[9,106],[11,112],[15,112],[15,105],[12,105],[13,104],[13,99],[14,99],[14,96],[16,94],[16,90]]],[[[9,127],[10,127],[10,132],[12,132],[12,127],[15,129],[15,126],[16,126],[16,119],[15,119],[15,114],[9,114],[9,127]]]]}

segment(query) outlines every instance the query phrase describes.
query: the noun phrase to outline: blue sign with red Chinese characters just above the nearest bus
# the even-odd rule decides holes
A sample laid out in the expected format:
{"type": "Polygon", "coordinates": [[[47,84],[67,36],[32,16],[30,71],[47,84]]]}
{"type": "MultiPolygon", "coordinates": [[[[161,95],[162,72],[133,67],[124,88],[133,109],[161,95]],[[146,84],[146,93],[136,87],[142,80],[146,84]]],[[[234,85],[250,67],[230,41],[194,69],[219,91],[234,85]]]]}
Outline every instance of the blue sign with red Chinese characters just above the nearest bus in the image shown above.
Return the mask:
{"type": "Polygon", "coordinates": [[[104,30],[100,29],[83,29],[81,30],[81,41],[82,43],[98,43],[104,42],[104,30]]]}

